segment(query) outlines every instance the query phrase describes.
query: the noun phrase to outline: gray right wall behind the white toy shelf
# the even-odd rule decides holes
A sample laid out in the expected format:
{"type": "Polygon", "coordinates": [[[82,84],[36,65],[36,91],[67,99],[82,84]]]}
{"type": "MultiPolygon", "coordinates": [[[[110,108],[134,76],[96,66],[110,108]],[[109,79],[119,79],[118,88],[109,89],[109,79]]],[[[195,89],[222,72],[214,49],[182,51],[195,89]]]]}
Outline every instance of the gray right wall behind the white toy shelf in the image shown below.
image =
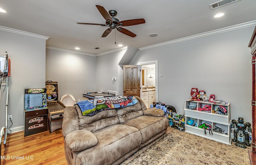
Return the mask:
{"type": "Polygon", "coordinates": [[[231,119],[252,122],[252,65],[248,43],[254,27],[138,51],[130,64],[158,60],[158,100],[184,113],[192,87],[230,102],[231,119]],[[162,75],[162,77],[160,77],[162,75]]]}

